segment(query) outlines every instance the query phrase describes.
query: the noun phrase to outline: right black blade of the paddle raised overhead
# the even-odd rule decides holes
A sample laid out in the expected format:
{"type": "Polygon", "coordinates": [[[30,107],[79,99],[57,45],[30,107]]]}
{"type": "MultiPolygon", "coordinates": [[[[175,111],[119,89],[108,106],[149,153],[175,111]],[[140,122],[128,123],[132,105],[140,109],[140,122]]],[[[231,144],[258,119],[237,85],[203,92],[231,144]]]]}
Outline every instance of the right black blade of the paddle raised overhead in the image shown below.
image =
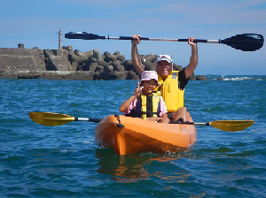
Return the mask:
{"type": "Polygon", "coordinates": [[[262,48],[263,42],[264,38],[262,34],[237,34],[220,41],[220,43],[242,51],[259,50],[262,48]]]}

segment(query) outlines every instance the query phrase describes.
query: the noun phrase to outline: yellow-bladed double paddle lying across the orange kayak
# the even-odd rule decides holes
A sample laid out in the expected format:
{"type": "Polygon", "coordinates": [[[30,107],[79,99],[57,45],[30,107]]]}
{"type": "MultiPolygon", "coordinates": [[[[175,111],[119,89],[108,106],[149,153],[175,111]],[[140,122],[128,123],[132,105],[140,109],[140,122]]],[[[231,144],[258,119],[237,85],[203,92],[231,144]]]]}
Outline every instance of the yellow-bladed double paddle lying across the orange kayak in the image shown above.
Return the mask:
{"type": "MultiPolygon", "coordinates": [[[[43,126],[61,126],[72,121],[100,122],[102,118],[74,118],[66,114],[51,112],[30,112],[29,118],[35,123],[43,126]]],[[[170,124],[184,124],[195,126],[214,126],[217,129],[227,132],[242,131],[254,124],[254,120],[219,120],[208,123],[197,122],[171,122],[170,124]]],[[[121,126],[119,126],[121,127],[121,126]]]]}

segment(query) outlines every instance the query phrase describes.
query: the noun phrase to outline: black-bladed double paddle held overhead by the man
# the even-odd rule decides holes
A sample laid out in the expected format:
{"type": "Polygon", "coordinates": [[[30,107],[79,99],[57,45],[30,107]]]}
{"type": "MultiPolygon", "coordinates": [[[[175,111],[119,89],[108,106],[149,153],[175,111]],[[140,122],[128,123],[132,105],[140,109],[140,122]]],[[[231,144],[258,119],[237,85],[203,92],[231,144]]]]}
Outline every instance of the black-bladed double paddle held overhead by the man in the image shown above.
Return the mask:
{"type": "MultiPolygon", "coordinates": [[[[134,40],[130,36],[101,36],[98,34],[89,34],[86,32],[70,32],[65,34],[66,39],[83,39],[83,40],[134,40]]],[[[166,38],[147,38],[141,37],[140,40],[144,41],[159,41],[159,42],[187,42],[187,39],[166,39],[166,38]]],[[[194,42],[207,42],[207,43],[222,43],[226,44],[236,50],[242,51],[255,51],[263,46],[264,38],[262,34],[237,34],[227,39],[219,40],[206,40],[195,39],[194,42]]]]}

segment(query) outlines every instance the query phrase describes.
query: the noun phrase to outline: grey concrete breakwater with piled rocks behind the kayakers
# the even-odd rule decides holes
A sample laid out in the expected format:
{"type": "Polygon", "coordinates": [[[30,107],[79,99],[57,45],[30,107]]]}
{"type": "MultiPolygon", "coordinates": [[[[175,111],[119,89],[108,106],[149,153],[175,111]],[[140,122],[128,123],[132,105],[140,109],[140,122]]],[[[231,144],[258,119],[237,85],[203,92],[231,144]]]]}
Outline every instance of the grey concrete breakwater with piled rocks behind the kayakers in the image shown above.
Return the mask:
{"type": "MultiPolygon", "coordinates": [[[[141,55],[146,70],[156,70],[157,55],[141,55]]],[[[183,67],[174,63],[174,70],[183,67]]],[[[99,50],[82,52],[72,46],[62,50],[0,48],[0,78],[50,80],[139,80],[132,60],[119,51],[113,54],[99,50]]],[[[190,80],[207,80],[194,76],[190,80]]]]}

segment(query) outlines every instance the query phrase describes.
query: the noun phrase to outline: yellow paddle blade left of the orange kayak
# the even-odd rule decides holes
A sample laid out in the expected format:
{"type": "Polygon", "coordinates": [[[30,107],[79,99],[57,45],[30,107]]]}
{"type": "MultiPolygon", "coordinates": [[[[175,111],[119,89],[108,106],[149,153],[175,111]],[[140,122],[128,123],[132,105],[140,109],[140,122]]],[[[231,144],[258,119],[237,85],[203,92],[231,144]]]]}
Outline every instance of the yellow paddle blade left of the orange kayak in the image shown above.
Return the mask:
{"type": "Polygon", "coordinates": [[[61,126],[74,121],[74,117],[50,112],[30,112],[29,118],[43,126],[61,126]]]}

